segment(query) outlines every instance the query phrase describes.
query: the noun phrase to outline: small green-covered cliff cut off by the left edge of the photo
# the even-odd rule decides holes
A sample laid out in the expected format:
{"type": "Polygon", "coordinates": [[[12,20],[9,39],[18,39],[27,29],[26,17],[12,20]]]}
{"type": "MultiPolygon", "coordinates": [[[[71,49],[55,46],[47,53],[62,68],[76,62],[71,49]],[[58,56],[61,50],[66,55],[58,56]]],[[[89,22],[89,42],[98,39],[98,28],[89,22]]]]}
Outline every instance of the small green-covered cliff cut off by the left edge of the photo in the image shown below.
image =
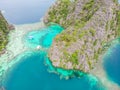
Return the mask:
{"type": "Polygon", "coordinates": [[[8,33],[10,29],[14,28],[7,23],[2,13],[0,12],[0,54],[4,53],[5,51],[5,46],[8,43],[8,33]]]}

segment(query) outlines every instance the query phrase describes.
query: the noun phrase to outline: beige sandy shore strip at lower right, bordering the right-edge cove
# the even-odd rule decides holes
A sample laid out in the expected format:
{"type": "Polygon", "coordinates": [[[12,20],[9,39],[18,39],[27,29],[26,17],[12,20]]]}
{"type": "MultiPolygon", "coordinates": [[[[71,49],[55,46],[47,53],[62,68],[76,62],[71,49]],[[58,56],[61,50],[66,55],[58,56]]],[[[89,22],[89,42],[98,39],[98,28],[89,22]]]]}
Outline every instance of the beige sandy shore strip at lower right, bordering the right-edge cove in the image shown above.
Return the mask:
{"type": "MultiPolygon", "coordinates": [[[[117,43],[116,41],[113,43],[117,43]]],[[[114,46],[114,44],[113,44],[114,46]]],[[[111,46],[112,47],[112,46],[111,46]]],[[[120,90],[120,86],[113,82],[112,80],[110,80],[104,70],[103,67],[103,63],[104,63],[104,56],[107,53],[104,52],[101,56],[100,56],[100,60],[99,62],[96,64],[95,68],[90,72],[90,74],[94,75],[95,77],[97,77],[101,83],[106,87],[107,90],[120,90]]]]}

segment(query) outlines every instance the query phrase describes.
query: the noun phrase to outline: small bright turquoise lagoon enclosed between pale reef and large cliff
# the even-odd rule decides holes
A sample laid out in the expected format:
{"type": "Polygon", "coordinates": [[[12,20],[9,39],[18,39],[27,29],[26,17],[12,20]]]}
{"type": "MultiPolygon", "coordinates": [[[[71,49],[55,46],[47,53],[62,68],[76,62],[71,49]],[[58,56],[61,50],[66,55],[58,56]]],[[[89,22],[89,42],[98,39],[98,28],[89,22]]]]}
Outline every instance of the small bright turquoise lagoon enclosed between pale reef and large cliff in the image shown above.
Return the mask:
{"type": "Polygon", "coordinates": [[[44,48],[49,48],[54,37],[63,30],[59,25],[51,25],[40,30],[32,31],[25,36],[26,45],[31,48],[36,48],[41,45],[44,48]]]}

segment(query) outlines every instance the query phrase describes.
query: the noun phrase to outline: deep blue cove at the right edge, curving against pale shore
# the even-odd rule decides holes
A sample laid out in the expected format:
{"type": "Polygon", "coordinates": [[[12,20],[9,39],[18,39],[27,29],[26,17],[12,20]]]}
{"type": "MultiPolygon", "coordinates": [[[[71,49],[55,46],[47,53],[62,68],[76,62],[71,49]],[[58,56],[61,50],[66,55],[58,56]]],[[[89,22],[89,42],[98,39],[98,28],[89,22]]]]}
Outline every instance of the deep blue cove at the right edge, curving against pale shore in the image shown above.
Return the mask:
{"type": "Polygon", "coordinates": [[[108,78],[120,86],[120,39],[105,54],[104,69],[108,78]]]}

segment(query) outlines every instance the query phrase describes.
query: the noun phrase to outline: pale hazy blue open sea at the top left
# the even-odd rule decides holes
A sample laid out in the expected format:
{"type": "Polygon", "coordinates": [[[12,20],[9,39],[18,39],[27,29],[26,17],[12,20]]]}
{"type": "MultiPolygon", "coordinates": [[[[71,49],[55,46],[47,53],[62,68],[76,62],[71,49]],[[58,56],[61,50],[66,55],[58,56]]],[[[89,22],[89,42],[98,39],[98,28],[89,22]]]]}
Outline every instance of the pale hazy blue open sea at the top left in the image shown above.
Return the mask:
{"type": "Polygon", "coordinates": [[[0,10],[13,24],[40,21],[55,0],[0,0],[0,10]]]}

